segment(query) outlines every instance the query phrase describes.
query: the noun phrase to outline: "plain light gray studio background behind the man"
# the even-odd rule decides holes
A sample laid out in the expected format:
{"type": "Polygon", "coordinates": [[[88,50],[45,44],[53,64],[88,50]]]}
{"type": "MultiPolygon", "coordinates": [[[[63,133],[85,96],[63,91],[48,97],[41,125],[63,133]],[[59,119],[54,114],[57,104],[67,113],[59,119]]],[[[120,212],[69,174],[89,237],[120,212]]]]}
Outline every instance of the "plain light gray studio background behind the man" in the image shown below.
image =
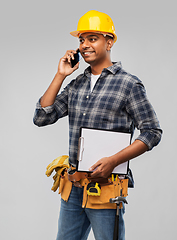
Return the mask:
{"type": "MultiPolygon", "coordinates": [[[[8,0],[0,7],[0,239],[55,239],[60,196],[45,169],[68,154],[68,122],[38,128],[32,118],[60,57],[78,46],[69,32],[93,9],[112,17],[112,60],[144,82],[164,130],[157,148],[130,163],[136,185],[126,206],[126,240],[175,238],[175,1],[8,0]]],[[[65,84],[86,66],[82,61],[65,84]]]]}

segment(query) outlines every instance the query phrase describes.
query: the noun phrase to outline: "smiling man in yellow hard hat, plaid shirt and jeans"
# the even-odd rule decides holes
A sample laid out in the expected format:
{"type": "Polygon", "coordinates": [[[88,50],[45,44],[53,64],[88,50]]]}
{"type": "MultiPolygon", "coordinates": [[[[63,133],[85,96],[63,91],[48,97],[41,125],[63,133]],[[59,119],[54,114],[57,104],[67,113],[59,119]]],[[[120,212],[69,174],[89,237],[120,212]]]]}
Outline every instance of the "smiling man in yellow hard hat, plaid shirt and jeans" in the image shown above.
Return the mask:
{"type": "MultiPolygon", "coordinates": [[[[77,31],[79,50],[90,66],[71,81],[58,95],[63,81],[78,69],[71,67],[75,50],[68,50],[60,59],[58,71],[47,91],[39,100],[34,123],[44,126],[69,117],[69,161],[77,161],[80,127],[128,131],[140,130],[138,138],[115,155],[98,159],[90,167],[91,178],[108,178],[113,169],[156,146],[160,129],[156,114],[149,103],[142,82],[112,63],[111,48],[117,40],[112,19],[105,13],[89,11],[79,22],[77,31]]],[[[83,188],[73,185],[68,201],[61,200],[57,240],[87,239],[92,227],[95,239],[113,239],[115,209],[82,208],[83,188]],[[82,214],[81,214],[82,212],[82,214]]],[[[124,209],[119,210],[119,239],[125,239],[124,209]]]]}

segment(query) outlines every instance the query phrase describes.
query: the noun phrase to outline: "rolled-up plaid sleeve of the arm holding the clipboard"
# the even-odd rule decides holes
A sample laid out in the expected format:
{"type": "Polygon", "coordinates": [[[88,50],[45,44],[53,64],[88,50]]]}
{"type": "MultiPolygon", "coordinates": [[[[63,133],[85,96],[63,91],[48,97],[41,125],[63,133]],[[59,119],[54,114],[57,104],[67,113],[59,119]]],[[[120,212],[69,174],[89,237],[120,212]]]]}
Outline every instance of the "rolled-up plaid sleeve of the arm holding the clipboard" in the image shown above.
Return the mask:
{"type": "Polygon", "coordinates": [[[161,140],[162,130],[141,82],[136,82],[130,92],[127,101],[127,112],[132,117],[135,127],[140,130],[140,134],[136,139],[144,142],[149,150],[158,145],[161,140]]]}

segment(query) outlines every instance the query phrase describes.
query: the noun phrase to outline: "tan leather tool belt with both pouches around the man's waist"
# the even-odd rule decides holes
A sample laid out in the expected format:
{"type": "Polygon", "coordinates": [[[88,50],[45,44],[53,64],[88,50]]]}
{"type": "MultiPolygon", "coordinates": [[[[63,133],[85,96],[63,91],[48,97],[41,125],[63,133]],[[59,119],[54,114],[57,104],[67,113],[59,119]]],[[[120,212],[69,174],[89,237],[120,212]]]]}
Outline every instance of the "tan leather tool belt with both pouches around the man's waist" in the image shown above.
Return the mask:
{"type": "MultiPolygon", "coordinates": [[[[55,171],[58,170],[58,165],[55,171]]],[[[56,175],[56,174],[55,174],[56,175]]],[[[64,201],[68,201],[72,186],[83,188],[83,208],[116,209],[115,203],[110,203],[110,198],[128,195],[128,179],[120,179],[112,174],[109,178],[91,179],[89,173],[77,172],[72,166],[65,166],[59,176],[59,194],[64,201]]],[[[58,176],[57,176],[58,177],[58,176]]],[[[54,178],[54,177],[53,177],[54,178]]],[[[56,191],[56,182],[54,179],[56,191]]],[[[120,204],[120,208],[122,204],[120,204]]]]}

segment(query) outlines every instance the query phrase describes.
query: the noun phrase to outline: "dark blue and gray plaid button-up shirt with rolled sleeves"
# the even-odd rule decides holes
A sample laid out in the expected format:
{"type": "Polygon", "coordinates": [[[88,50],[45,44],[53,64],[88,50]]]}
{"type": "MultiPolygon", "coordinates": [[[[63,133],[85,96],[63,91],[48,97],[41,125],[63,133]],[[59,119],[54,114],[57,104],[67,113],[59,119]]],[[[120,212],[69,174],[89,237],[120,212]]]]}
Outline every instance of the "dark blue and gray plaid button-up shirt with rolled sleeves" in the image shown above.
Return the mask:
{"type": "Polygon", "coordinates": [[[71,81],[52,106],[37,103],[34,123],[45,126],[69,116],[70,163],[76,165],[80,127],[133,132],[149,150],[156,146],[162,130],[142,82],[122,69],[121,63],[103,69],[90,91],[91,69],[71,81]]]}

